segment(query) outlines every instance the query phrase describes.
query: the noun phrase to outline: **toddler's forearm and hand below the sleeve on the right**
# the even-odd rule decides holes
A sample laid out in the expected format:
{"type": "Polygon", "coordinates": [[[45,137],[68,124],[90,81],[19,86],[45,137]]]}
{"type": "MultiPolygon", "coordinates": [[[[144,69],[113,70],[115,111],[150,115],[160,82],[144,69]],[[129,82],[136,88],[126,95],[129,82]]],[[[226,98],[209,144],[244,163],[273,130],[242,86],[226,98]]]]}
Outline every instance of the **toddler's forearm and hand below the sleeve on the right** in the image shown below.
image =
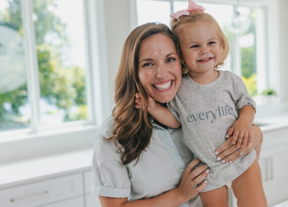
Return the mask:
{"type": "Polygon", "coordinates": [[[250,105],[246,105],[239,110],[239,118],[234,122],[229,136],[233,133],[232,143],[237,141],[237,147],[241,147],[250,142],[251,129],[250,126],[255,117],[255,109],[250,105]]]}

